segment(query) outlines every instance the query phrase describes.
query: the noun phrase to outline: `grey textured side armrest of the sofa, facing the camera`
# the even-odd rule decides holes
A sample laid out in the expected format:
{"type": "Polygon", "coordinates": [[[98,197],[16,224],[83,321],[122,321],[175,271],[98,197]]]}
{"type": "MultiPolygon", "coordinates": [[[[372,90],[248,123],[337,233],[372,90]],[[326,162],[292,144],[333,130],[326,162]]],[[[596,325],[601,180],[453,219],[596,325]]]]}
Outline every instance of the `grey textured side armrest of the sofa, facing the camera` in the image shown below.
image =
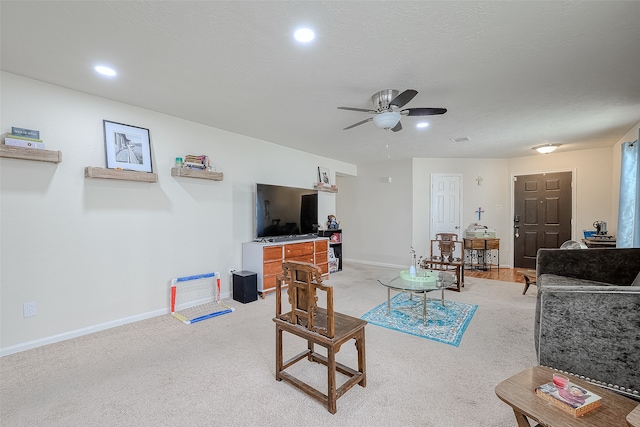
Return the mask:
{"type": "Polygon", "coordinates": [[[640,287],[544,286],[538,362],[640,398],[640,287]]]}

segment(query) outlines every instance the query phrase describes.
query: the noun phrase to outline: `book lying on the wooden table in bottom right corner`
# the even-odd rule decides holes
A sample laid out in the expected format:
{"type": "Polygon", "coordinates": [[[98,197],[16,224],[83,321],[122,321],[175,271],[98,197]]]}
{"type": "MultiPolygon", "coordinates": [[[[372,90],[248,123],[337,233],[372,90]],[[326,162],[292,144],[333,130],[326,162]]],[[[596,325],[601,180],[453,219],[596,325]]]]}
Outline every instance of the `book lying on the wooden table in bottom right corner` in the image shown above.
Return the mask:
{"type": "Polygon", "coordinates": [[[535,393],[576,417],[602,406],[600,396],[571,382],[565,388],[558,388],[553,382],[546,383],[536,387],[535,393]]]}

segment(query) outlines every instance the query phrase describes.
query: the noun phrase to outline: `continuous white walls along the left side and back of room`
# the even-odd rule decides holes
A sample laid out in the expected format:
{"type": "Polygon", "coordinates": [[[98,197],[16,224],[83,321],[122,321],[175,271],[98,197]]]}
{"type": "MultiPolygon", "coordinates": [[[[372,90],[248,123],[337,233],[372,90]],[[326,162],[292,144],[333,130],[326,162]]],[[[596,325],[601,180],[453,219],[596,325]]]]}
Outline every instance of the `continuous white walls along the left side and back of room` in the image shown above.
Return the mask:
{"type": "MultiPolygon", "coordinates": [[[[427,253],[431,173],[463,176],[462,225],[476,222],[481,206],[482,223],[502,239],[503,265],[512,262],[514,174],[575,170],[576,229],[602,219],[615,230],[620,144],[356,168],[9,73],[0,82],[0,133],[38,129],[63,153],[58,165],[0,158],[0,355],[166,313],[172,277],[220,271],[230,295],[229,271],[242,268],[242,242],[253,237],[254,184],[311,187],[318,166],[339,188],[320,193],[318,219],[337,215],[347,260],[407,266],[411,246],[427,253]],[[105,119],[150,129],[157,184],[84,178],[85,166],[105,164],[105,119]],[[171,177],[185,154],[208,154],[224,181],[171,177]],[[31,301],[38,314],[23,318],[31,301]]],[[[639,125],[621,142],[635,140],[639,125]]]]}

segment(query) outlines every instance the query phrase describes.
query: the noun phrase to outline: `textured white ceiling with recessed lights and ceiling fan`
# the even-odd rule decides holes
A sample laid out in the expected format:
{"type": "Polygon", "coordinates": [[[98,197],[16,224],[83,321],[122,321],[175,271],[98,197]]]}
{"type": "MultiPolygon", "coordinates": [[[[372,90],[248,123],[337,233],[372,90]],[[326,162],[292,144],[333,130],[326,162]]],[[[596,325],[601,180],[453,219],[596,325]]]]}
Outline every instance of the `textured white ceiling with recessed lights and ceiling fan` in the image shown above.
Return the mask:
{"type": "MultiPolygon", "coordinates": [[[[607,147],[640,121],[640,2],[5,1],[1,68],[350,163],[607,147]],[[301,24],[316,40],[292,39],[301,24]],[[96,76],[113,65],[114,80],[96,76]],[[338,106],[444,107],[387,132],[338,106]],[[454,144],[452,138],[469,137],[454,144]],[[388,146],[388,148],[387,148],[388,146]]],[[[153,129],[151,130],[153,132],[153,129]]]]}

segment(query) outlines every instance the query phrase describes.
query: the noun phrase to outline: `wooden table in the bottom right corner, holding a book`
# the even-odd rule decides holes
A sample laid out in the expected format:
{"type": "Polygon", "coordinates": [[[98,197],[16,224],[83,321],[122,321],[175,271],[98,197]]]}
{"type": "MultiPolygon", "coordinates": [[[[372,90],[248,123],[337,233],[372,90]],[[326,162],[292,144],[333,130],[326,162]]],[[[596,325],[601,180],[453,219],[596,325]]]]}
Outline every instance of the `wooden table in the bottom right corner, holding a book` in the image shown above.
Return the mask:
{"type": "Polygon", "coordinates": [[[542,426],[551,427],[637,426],[631,422],[636,422],[640,416],[640,409],[636,408],[638,402],[575,377],[569,377],[569,380],[587,390],[593,390],[602,397],[601,407],[576,417],[537,396],[534,389],[552,381],[554,372],[556,371],[553,369],[534,366],[507,378],[496,386],[498,398],[513,408],[518,427],[530,427],[527,418],[537,421],[542,426]],[[635,414],[636,411],[638,414],[635,414]],[[629,422],[630,418],[631,422],[629,422]]]}

